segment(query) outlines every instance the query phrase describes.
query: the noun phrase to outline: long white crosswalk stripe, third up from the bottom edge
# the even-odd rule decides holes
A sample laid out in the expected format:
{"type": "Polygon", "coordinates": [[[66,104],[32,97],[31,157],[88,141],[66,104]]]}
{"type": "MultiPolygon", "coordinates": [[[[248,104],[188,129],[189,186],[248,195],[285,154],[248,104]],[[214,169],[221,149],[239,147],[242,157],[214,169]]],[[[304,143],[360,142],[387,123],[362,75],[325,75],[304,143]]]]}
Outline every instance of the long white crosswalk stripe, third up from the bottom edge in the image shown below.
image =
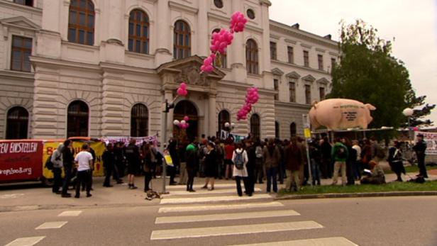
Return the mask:
{"type": "Polygon", "coordinates": [[[256,211],[247,213],[217,213],[201,216],[167,216],[158,217],[155,220],[156,224],[163,223],[187,223],[198,221],[216,221],[216,220],[241,220],[248,218],[273,218],[273,217],[287,217],[299,216],[299,213],[293,210],[280,211],[256,211]]]}

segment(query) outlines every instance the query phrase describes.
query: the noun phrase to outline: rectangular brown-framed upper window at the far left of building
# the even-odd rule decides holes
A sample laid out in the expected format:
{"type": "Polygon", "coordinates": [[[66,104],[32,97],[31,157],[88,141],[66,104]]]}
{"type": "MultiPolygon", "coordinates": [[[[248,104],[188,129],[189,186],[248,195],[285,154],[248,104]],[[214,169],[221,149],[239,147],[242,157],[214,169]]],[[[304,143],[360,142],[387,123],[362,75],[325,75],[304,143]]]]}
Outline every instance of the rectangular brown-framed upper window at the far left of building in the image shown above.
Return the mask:
{"type": "Polygon", "coordinates": [[[31,72],[32,38],[12,36],[11,70],[31,72]]]}

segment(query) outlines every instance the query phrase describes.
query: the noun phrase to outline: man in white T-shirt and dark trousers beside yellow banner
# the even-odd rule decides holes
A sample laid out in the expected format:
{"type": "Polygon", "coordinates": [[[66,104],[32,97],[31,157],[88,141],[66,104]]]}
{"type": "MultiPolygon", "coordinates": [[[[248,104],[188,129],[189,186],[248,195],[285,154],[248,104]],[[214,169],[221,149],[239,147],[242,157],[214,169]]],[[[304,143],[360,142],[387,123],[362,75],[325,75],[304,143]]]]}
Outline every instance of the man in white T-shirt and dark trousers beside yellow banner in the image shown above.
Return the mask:
{"type": "Polygon", "coordinates": [[[87,186],[87,197],[92,196],[91,191],[91,177],[92,177],[92,155],[88,152],[88,145],[82,145],[82,151],[74,158],[75,167],[77,168],[77,184],[76,184],[76,196],[80,196],[80,186],[82,182],[87,186]]]}

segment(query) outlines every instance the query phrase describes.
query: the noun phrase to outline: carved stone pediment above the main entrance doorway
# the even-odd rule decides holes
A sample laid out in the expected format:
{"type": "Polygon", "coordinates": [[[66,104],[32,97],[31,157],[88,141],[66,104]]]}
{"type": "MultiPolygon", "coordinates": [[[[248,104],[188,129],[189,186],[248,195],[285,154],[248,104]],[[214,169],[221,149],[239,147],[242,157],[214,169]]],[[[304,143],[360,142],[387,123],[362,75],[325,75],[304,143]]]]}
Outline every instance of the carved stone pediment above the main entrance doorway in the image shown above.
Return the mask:
{"type": "Polygon", "coordinates": [[[157,68],[157,74],[160,74],[162,77],[172,75],[171,77],[167,76],[170,81],[164,81],[164,84],[186,82],[194,86],[209,86],[210,82],[216,82],[225,77],[226,74],[217,68],[210,73],[201,74],[200,67],[203,64],[204,60],[194,55],[160,65],[160,67],[157,68]]]}

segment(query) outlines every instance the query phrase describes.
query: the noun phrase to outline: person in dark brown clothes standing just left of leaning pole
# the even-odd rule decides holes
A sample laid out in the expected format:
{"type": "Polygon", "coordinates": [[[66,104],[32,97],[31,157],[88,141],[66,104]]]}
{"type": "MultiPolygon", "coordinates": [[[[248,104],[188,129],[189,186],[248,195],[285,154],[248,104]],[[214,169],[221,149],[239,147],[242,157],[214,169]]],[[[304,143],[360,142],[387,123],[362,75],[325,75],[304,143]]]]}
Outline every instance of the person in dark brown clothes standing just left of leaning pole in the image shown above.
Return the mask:
{"type": "Polygon", "coordinates": [[[299,191],[300,189],[299,169],[302,167],[301,164],[304,158],[302,155],[302,150],[297,145],[296,138],[292,138],[284,150],[285,172],[287,172],[285,189],[289,191],[299,191]]]}

